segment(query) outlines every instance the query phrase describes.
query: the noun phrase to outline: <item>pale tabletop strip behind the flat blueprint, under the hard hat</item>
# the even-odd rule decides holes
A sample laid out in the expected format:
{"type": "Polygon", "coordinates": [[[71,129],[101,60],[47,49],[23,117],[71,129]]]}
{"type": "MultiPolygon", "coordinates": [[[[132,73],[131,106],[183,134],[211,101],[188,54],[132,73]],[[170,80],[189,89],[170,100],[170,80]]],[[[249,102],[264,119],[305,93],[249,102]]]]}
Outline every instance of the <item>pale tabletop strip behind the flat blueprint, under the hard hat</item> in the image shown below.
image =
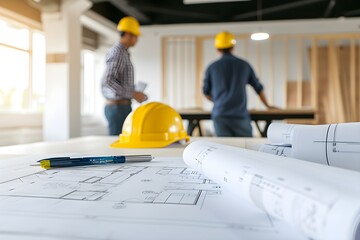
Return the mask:
{"type": "MultiPolygon", "coordinates": [[[[73,138],[65,141],[38,142],[0,147],[0,159],[28,154],[151,154],[154,157],[181,157],[186,145],[172,144],[164,148],[110,148],[116,141],[116,136],[88,136],[73,138]]],[[[217,137],[192,137],[191,141],[209,140],[221,144],[255,149],[266,142],[265,138],[217,138],[217,137]]]]}

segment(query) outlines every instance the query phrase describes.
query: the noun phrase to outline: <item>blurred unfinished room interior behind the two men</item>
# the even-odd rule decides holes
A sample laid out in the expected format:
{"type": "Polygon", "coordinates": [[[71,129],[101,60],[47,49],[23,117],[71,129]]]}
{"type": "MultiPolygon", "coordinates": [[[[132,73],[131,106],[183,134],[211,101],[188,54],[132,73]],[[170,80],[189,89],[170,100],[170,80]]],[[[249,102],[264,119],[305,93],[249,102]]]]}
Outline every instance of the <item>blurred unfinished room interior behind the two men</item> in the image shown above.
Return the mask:
{"type": "MultiPolygon", "coordinates": [[[[100,82],[127,15],[142,24],[130,52],[150,101],[211,110],[202,77],[227,30],[272,105],[316,111],[299,123],[360,121],[359,1],[216,2],[0,0],[0,145],[107,134],[100,82]]],[[[252,89],[248,108],[264,108],[252,89]]]]}

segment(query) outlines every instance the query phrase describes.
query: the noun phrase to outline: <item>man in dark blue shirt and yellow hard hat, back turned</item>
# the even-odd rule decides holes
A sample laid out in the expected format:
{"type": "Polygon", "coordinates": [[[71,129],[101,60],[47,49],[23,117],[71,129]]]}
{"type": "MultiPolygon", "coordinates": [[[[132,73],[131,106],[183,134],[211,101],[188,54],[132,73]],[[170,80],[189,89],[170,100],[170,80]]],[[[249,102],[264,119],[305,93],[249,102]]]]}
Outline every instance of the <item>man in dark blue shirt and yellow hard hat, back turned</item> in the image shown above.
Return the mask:
{"type": "Polygon", "coordinates": [[[251,118],[247,110],[246,85],[250,84],[267,108],[269,105],[263,85],[250,64],[232,54],[235,37],[220,32],[215,47],[221,58],[208,66],[203,82],[203,93],[214,103],[211,118],[219,137],[252,137],[251,118]]]}

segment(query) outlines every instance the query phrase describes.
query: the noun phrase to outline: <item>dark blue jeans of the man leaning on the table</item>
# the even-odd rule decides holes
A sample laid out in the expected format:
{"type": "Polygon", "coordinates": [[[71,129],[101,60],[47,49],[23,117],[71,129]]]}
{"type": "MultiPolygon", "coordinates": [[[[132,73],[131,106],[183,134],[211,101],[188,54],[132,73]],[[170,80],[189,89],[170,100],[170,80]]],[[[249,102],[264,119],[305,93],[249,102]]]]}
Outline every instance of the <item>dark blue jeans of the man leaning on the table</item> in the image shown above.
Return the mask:
{"type": "Polygon", "coordinates": [[[250,118],[213,118],[217,137],[252,137],[250,118]]]}

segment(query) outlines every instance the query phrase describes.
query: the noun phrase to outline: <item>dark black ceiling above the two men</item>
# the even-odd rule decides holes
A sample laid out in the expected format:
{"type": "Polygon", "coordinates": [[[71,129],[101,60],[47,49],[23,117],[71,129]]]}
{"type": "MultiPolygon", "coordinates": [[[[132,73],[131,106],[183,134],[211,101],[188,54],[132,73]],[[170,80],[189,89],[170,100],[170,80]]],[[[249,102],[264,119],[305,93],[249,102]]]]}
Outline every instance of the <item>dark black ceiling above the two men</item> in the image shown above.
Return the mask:
{"type": "Polygon", "coordinates": [[[91,1],[93,11],[116,24],[128,15],[142,25],[360,17],[360,0],[207,0],[213,3],[202,4],[184,4],[183,0],[91,1]]]}

